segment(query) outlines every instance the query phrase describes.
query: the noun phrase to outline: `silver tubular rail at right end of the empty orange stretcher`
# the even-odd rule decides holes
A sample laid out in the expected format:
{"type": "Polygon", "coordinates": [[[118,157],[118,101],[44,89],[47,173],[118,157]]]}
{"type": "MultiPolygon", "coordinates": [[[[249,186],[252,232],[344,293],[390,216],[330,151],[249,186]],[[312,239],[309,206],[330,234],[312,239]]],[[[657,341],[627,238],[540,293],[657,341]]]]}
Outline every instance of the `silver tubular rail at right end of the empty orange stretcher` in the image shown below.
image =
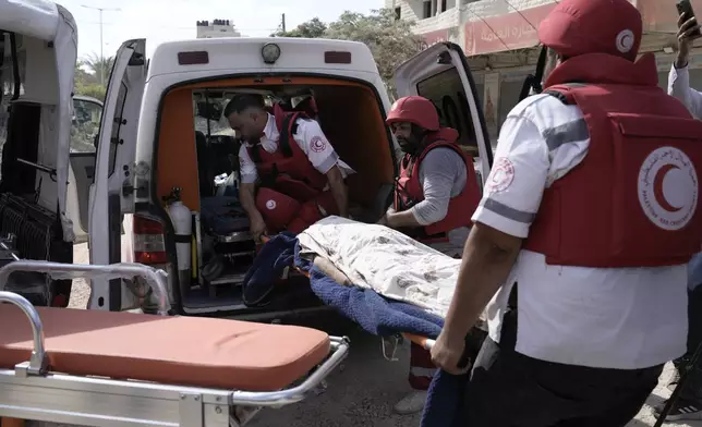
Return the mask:
{"type": "Polygon", "coordinates": [[[279,391],[233,391],[230,396],[230,404],[242,406],[285,406],[302,401],[349,354],[350,341],[347,337],[329,337],[329,341],[331,355],[300,386],[279,391]]]}

